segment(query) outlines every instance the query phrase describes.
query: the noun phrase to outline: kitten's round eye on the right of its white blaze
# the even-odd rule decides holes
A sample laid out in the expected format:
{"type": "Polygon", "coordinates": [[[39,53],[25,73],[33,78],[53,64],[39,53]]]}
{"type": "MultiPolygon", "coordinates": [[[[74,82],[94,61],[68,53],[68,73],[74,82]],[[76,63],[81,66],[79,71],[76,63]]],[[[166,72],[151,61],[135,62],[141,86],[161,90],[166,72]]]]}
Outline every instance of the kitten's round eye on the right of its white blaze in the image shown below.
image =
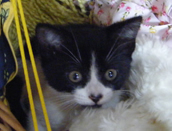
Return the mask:
{"type": "Polygon", "coordinates": [[[116,78],[117,76],[117,71],[114,70],[114,69],[109,69],[106,71],[105,73],[105,78],[108,80],[108,81],[112,81],[116,78]]]}

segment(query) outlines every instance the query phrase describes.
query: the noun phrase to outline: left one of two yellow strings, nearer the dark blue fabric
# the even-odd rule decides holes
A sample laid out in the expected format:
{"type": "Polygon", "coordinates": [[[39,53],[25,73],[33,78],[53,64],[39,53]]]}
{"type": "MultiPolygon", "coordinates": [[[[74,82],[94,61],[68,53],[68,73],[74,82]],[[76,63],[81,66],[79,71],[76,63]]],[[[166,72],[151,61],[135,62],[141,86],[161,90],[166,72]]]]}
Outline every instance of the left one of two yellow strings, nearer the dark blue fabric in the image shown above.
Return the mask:
{"type": "Polygon", "coordinates": [[[14,17],[15,17],[17,36],[18,36],[18,41],[19,41],[19,49],[20,49],[22,63],[23,63],[23,70],[24,70],[24,74],[25,74],[25,81],[26,81],[26,87],[27,87],[29,102],[30,102],[32,118],[33,118],[33,125],[34,125],[35,131],[38,131],[36,112],[35,112],[35,107],[34,107],[34,102],[33,102],[33,97],[32,97],[32,91],[31,91],[31,87],[30,87],[30,80],[29,80],[29,74],[28,74],[28,70],[27,70],[25,52],[24,52],[23,41],[22,41],[22,36],[21,36],[16,0],[11,0],[11,2],[13,4],[13,8],[14,8],[14,17]]]}

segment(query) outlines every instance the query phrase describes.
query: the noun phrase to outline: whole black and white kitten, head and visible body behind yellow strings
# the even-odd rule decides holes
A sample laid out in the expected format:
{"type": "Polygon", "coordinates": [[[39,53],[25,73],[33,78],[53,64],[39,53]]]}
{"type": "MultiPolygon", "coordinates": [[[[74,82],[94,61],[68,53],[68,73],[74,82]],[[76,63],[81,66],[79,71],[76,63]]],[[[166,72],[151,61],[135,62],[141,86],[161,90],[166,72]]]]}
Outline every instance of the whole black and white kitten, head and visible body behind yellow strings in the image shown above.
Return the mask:
{"type": "MultiPolygon", "coordinates": [[[[63,131],[85,107],[114,107],[129,76],[131,55],[142,18],[109,27],[39,24],[32,45],[53,131],[63,131]]],[[[44,116],[30,70],[40,131],[44,116]]],[[[23,89],[22,102],[27,101],[23,89]]],[[[26,104],[24,104],[26,105],[26,104]]],[[[33,131],[28,113],[28,129],[33,131]]]]}

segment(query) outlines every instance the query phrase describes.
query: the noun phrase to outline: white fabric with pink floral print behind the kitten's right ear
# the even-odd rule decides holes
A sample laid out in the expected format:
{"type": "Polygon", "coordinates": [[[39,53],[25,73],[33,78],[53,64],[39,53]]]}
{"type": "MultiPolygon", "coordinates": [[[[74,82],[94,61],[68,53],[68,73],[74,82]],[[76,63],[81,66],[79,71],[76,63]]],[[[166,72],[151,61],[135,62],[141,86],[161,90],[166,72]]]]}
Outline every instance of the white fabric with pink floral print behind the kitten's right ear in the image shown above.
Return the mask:
{"type": "Polygon", "coordinates": [[[150,33],[172,47],[172,0],[95,0],[94,22],[110,25],[143,16],[139,33],[150,33]]]}

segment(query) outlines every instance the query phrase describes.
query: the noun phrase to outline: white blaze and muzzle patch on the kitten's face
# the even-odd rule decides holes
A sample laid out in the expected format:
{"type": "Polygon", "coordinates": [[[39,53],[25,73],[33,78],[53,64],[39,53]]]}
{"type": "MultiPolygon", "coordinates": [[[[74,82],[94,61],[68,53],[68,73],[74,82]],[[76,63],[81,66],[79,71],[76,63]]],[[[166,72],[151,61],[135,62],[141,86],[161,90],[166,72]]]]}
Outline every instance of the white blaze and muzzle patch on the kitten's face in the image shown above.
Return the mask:
{"type": "MultiPolygon", "coordinates": [[[[90,68],[90,81],[88,81],[84,88],[76,89],[74,92],[74,99],[80,105],[103,105],[110,102],[112,98],[114,99],[114,94],[116,94],[111,88],[106,87],[98,80],[95,59],[93,54],[92,65],[90,68]],[[96,102],[94,98],[97,99],[96,102]]],[[[119,100],[119,95],[116,96],[119,100]]]]}

